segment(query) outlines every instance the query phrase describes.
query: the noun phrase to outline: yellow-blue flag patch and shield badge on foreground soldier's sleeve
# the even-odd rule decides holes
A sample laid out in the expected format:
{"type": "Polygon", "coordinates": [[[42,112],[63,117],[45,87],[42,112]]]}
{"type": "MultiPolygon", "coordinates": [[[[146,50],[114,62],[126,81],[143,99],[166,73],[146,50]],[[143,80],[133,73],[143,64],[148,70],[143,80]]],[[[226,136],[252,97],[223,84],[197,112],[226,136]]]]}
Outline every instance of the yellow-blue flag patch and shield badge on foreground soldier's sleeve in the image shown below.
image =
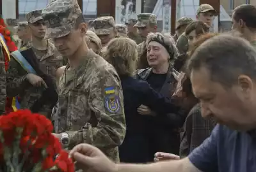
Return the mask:
{"type": "Polygon", "coordinates": [[[105,108],[110,113],[117,113],[120,110],[120,99],[115,92],[115,87],[107,87],[105,95],[105,108]]]}

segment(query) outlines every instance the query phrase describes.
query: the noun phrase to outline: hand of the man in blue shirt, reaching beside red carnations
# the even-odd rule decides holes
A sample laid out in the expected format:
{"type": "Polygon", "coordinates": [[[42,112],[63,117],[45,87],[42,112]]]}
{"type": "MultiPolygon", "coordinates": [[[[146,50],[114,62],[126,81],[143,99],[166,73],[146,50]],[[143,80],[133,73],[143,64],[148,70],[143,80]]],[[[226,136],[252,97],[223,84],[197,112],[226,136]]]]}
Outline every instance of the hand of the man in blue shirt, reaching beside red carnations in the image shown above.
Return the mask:
{"type": "Polygon", "coordinates": [[[115,171],[116,164],[108,159],[99,148],[88,144],[80,144],[70,151],[70,157],[84,171],[115,171]]]}

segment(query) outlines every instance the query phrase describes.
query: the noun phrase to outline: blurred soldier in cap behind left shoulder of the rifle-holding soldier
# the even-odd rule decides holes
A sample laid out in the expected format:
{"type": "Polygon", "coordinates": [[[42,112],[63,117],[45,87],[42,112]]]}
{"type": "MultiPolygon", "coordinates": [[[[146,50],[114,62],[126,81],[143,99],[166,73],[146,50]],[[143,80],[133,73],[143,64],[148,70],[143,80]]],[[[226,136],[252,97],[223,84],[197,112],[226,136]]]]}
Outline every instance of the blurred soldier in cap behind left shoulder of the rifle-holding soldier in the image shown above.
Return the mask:
{"type": "Polygon", "coordinates": [[[20,43],[17,47],[19,49],[22,47],[29,47],[29,41],[31,41],[31,33],[29,32],[28,22],[18,23],[17,35],[20,38],[20,43]]]}

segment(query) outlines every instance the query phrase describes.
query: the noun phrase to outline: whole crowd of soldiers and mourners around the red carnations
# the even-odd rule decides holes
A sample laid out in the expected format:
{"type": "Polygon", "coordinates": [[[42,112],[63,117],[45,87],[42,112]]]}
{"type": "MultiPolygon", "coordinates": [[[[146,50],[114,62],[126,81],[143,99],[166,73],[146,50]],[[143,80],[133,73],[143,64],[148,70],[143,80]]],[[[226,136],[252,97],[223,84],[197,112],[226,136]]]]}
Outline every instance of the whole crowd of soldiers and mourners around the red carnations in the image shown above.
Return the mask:
{"type": "Polygon", "coordinates": [[[7,68],[1,42],[1,113],[7,98],[51,119],[84,171],[256,171],[256,8],[228,33],[215,15],[202,4],[171,35],[152,13],[85,22],[76,0],[52,1],[19,22],[7,68]]]}

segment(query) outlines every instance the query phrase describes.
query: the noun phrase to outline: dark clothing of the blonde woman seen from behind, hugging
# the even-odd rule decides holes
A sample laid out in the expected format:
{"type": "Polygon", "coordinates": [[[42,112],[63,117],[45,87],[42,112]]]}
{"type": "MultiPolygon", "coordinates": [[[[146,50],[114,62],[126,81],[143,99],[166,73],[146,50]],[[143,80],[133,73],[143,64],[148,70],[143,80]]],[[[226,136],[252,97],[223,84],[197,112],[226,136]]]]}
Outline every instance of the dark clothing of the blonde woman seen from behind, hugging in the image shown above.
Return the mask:
{"type": "MultiPolygon", "coordinates": [[[[125,139],[119,147],[120,161],[130,163],[148,162],[151,152],[149,150],[147,116],[140,115],[137,108],[144,104],[158,113],[178,111],[179,107],[157,93],[143,80],[131,76],[120,76],[124,94],[124,109],[127,130],[125,139]]],[[[152,156],[152,155],[151,155],[152,156]]]]}

